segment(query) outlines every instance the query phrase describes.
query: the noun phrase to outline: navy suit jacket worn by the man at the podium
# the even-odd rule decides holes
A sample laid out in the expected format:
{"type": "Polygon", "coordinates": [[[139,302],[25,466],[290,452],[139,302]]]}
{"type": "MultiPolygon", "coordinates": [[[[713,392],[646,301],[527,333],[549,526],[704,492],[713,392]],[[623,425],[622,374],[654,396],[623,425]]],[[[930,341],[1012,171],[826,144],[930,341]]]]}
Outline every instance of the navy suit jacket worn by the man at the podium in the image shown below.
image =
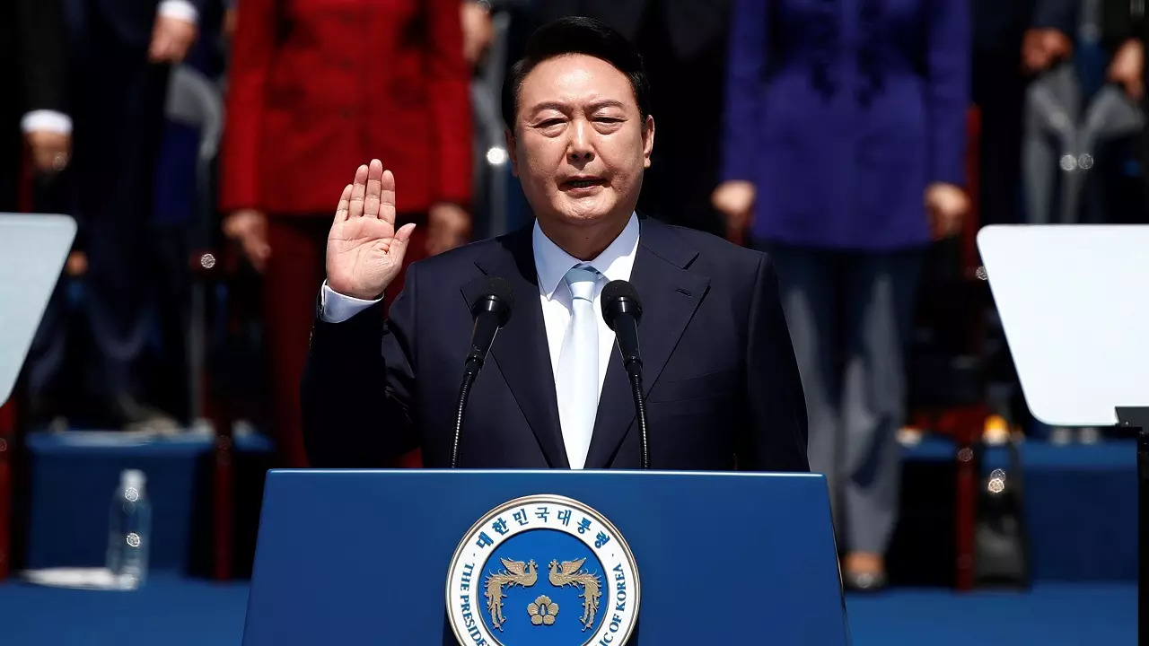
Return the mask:
{"type": "MultiPolygon", "coordinates": [[[[809,471],[807,417],[774,267],[759,252],[641,217],[631,283],[654,469],[809,471]]],[[[447,467],[470,303],[483,276],[515,289],[510,322],[475,382],[464,468],[569,468],[558,423],[531,228],[412,263],[384,322],[372,306],[318,316],[302,383],[313,467],[381,467],[422,447],[447,467]]],[[[640,467],[626,371],[612,353],[587,468],[640,467]]]]}

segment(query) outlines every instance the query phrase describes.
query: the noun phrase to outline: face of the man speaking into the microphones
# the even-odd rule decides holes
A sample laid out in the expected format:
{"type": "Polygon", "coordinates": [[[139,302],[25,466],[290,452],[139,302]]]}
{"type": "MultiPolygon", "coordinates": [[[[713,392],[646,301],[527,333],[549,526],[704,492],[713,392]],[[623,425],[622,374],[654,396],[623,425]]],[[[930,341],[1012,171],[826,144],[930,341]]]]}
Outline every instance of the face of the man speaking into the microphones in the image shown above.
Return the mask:
{"type": "Polygon", "coordinates": [[[581,54],[537,66],[519,90],[515,175],[540,222],[593,225],[630,216],[650,166],[654,120],[643,128],[630,79],[581,54]]]}

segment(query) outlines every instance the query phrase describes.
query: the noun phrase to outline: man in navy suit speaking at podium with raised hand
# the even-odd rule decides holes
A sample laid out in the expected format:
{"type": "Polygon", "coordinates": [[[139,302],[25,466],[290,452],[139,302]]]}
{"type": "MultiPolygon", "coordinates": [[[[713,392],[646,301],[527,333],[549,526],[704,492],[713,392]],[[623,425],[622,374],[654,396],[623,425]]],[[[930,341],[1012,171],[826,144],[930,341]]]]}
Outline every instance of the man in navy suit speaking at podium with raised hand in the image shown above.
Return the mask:
{"type": "MultiPolygon", "coordinates": [[[[516,302],[475,382],[460,466],[638,468],[634,405],[602,287],[641,297],[650,464],[808,471],[802,385],[759,252],[634,212],[655,122],[641,59],[588,18],[540,29],[503,87],[511,163],[537,223],[408,268],[412,224],[373,160],[340,198],[302,384],[314,467],[377,467],[415,446],[449,464],[453,410],[485,276],[516,302]],[[381,352],[380,352],[381,347],[381,352]]],[[[671,195],[672,197],[672,195],[671,195]]]]}

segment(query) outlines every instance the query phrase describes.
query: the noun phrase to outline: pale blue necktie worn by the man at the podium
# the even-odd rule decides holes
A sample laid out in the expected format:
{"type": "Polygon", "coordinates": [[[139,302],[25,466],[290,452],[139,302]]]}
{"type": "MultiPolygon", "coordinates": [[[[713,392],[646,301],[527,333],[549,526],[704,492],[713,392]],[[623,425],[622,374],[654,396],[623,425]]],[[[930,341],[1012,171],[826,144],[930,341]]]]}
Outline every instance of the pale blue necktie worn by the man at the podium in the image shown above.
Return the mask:
{"type": "Polygon", "coordinates": [[[572,469],[586,464],[586,453],[599,410],[599,318],[594,313],[594,286],[600,274],[576,266],[563,280],[571,292],[571,321],[558,355],[556,385],[558,421],[572,469]]]}

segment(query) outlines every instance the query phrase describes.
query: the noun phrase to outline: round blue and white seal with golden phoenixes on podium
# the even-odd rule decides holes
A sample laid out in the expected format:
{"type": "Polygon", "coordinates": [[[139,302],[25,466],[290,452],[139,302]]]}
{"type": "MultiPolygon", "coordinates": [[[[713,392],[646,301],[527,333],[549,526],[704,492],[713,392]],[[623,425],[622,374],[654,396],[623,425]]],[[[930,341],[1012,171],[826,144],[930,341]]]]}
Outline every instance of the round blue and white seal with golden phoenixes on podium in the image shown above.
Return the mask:
{"type": "Polygon", "coordinates": [[[448,569],[447,616],[463,646],[622,646],[639,590],[634,554],[602,514],[529,495],[463,537],[448,569]]]}

